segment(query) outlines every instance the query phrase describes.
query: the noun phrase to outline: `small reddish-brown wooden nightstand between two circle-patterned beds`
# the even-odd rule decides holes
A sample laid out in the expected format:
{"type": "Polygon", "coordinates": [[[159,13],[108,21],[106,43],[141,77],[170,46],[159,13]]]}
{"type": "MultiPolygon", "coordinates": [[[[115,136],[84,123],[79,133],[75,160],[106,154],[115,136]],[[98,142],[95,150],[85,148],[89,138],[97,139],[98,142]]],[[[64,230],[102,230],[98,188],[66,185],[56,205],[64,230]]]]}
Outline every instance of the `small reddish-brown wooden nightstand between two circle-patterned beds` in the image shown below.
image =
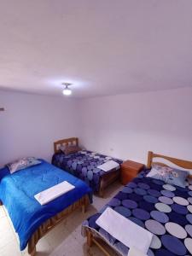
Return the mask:
{"type": "Polygon", "coordinates": [[[134,177],[137,177],[137,174],[142,171],[144,165],[131,161],[126,160],[121,164],[121,173],[120,179],[122,184],[126,184],[130,182],[134,177]]]}

